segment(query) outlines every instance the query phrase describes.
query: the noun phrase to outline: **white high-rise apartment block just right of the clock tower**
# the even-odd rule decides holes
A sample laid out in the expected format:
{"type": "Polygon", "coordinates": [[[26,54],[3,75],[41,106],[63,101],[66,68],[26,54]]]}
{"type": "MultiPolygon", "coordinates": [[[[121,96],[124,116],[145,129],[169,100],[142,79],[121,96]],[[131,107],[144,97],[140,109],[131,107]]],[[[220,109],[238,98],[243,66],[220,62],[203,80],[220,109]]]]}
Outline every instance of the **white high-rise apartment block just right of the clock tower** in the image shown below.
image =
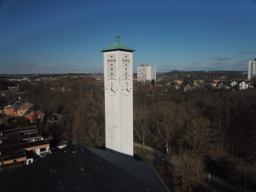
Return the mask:
{"type": "Polygon", "coordinates": [[[137,81],[151,81],[157,79],[157,68],[151,65],[139,65],[137,67],[137,81]]]}

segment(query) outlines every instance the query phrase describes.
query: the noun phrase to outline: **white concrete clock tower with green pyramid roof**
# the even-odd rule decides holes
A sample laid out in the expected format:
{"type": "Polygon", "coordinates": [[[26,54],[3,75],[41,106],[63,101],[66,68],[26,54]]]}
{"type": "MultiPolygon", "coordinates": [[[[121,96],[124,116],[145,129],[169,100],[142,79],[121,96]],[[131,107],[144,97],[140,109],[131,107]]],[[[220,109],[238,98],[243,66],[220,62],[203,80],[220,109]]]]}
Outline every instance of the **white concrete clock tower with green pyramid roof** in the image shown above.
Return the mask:
{"type": "Polygon", "coordinates": [[[133,156],[132,50],[119,42],[104,57],[106,150],[133,156]]]}

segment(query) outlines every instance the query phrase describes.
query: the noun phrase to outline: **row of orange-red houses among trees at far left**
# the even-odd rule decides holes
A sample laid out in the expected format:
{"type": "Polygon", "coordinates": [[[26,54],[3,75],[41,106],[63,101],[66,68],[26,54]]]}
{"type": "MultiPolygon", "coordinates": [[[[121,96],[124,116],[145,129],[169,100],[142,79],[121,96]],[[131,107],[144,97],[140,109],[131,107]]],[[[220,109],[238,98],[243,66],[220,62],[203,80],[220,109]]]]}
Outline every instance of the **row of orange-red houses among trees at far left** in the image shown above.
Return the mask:
{"type": "Polygon", "coordinates": [[[36,120],[43,120],[44,114],[39,110],[35,109],[35,105],[31,102],[27,102],[20,97],[9,105],[6,105],[3,109],[3,113],[9,117],[20,117],[24,116],[29,120],[30,123],[36,120]]]}

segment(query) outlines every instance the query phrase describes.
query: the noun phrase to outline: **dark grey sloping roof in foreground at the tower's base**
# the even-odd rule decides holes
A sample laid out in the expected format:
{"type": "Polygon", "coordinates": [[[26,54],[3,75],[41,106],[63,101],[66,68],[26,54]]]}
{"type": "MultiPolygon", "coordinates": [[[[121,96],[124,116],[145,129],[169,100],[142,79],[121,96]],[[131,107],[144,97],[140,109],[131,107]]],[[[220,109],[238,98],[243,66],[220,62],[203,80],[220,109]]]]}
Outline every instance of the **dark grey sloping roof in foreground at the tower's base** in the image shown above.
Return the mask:
{"type": "Polygon", "coordinates": [[[1,191],[168,191],[150,164],[70,145],[9,175],[1,191]]]}

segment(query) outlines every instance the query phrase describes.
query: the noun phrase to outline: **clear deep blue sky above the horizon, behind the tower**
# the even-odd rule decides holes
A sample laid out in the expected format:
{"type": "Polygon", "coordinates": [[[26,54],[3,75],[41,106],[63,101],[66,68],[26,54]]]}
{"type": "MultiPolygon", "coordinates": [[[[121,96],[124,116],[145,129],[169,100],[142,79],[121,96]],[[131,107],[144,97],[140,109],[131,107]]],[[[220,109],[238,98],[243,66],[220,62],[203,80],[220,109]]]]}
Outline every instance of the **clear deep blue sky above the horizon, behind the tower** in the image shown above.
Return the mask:
{"type": "Polygon", "coordinates": [[[256,0],[2,0],[0,74],[103,72],[117,31],[134,70],[246,71],[256,0]]]}

